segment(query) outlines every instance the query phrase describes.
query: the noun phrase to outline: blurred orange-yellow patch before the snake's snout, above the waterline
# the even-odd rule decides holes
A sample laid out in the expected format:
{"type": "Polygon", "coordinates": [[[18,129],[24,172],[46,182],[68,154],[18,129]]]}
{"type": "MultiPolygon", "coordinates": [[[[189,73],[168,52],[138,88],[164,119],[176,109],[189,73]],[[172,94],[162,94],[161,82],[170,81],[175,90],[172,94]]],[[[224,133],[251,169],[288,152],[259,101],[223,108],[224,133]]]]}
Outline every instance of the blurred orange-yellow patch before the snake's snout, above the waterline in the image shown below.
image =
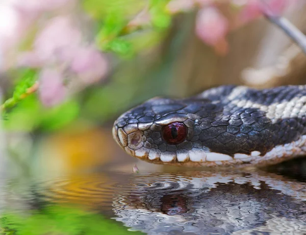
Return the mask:
{"type": "Polygon", "coordinates": [[[43,169],[55,171],[52,174],[95,172],[119,161],[117,152],[124,154],[108,128],[58,132],[44,138],[38,161],[43,169]]]}

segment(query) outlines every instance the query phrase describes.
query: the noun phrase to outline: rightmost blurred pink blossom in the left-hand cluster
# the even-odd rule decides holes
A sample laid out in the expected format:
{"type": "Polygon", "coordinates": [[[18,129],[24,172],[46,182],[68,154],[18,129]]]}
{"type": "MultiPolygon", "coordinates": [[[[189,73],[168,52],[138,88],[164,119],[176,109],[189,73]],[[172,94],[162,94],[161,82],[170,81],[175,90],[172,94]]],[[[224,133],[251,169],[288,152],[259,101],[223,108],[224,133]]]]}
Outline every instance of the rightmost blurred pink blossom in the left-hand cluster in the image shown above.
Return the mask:
{"type": "Polygon", "coordinates": [[[97,49],[80,48],[74,54],[70,68],[84,82],[93,83],[105,77],[108,72],[108,62],[97,49]]]}

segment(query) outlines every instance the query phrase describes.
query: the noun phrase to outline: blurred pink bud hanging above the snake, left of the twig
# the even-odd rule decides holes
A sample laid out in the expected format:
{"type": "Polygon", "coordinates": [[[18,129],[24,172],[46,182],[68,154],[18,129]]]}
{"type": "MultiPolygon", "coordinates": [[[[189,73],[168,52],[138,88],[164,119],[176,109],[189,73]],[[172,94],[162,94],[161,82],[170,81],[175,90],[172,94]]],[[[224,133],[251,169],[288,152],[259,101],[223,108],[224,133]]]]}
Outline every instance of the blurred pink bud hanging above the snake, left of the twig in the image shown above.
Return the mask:
{"type": "Polygon", "coordinates": [[[197,13],[195,31],[204,42],[216,45],[225,38],[228,31],[228,21],[217,8],[202,8],[197,13]]]}

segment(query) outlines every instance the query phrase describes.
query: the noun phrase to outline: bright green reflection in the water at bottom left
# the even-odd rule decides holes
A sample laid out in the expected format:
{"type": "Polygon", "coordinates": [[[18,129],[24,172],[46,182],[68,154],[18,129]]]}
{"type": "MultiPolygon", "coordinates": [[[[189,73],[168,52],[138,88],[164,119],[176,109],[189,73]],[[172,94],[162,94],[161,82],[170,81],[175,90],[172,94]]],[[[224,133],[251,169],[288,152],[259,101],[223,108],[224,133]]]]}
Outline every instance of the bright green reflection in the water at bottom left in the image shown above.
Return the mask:
{"type": "Polygon", "coordinates": [[[142,234],[130,232],[126,227],[87,210],[65,205],[49,205],[32,211],[30,216],[6,213],[1,218],[5,234],[142,234]]]}

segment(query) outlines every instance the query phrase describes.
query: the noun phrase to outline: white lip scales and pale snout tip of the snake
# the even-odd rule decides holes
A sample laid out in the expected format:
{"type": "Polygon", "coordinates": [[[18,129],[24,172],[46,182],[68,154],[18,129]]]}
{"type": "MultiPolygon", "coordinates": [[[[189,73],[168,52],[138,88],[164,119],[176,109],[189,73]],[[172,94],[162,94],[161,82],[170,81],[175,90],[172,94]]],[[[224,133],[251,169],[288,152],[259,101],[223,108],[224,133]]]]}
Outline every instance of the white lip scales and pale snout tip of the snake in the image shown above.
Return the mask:
{"type": "MultiPolygon", "coordinates": [[[[177,165],[177,166],[246,166],[247,164],[260,165],[261,161],[267,165],[269,162],[281,161],[282,157],[276,160],[273,157],[275,150],[270,151],[267,156],[259,157],[259,151],[253,151],[250,155],[236,153],[233,157],[221,153],[206,152],[203,149],[177,150],[174,152],[161,152],[158,149],[147,148],[144,131],[135,125],[124,127],[113,126],[113,137],[117,144],[129,155],[156,164],[177,165]],[[262,159],[263,158],[263,159],[262,159]],[[270,160],[270,161],[269,161],[270,160]]],[[[306,142],[306,137],[303,142],[306,142]]],[[[277,149],[277,148],[276,148],[277,149]]],[[[279,149],[279,148],[278,148],[279,149]]],[[[280,156],[285,156],[286,151],[280,156]],[[285,155],[284,155],[285,154],[285,155]]]]}

